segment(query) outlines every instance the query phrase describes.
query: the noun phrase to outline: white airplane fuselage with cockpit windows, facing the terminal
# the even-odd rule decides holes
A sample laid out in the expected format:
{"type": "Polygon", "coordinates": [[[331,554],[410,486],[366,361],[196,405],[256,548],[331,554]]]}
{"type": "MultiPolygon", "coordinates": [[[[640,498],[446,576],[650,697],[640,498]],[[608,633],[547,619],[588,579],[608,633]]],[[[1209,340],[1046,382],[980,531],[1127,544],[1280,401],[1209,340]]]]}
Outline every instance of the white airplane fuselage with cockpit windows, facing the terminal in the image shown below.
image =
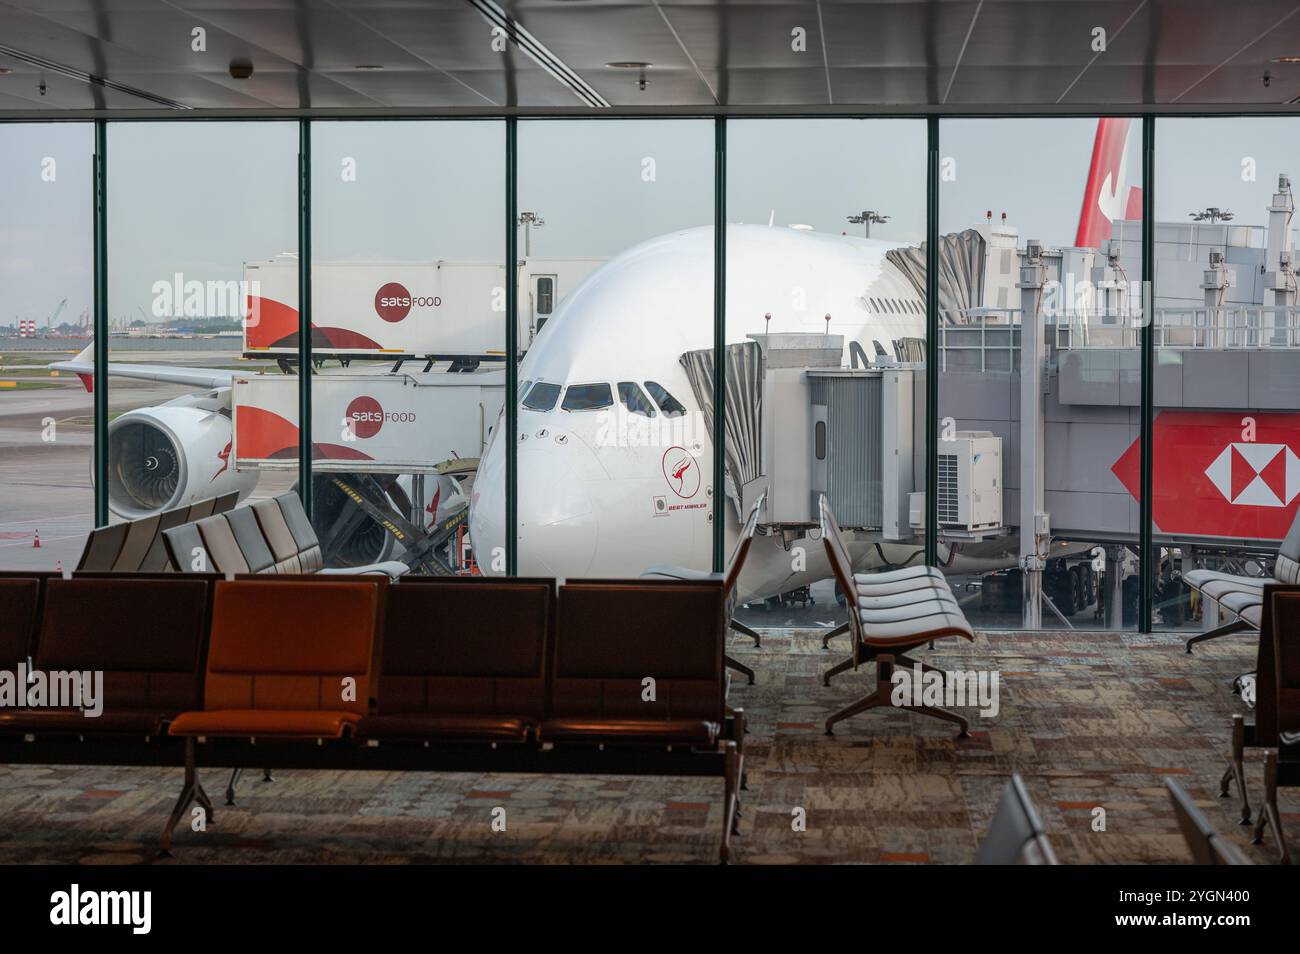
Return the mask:
{"type": "MultiPolygon", "coordinates": [[[[712,439],[680,357],[712,347],[712,235],[711,227],[688,229],[611,259],[568,295],[524,357],[524,406],[514,437],[520,574],[634,577],[654,564],[710,568],[712,439]],[[538,382],[562,391],[552,406],[529,409],[528,389],[538,382]],[[647,382],[666,389],[685,413],[629,412],[619,385],[634,383],[646,394],[647,382]],[[575,385],[607,385],[614,406],[564,409],[575,385]]],[[[728,343],[764,331],[829,333],[872,355],[875,342],[890,351],[894,339],[923,338],[924,304],[885,257],[894,247],[728,226],[728,343]]],[[[507,437],[493,434],[471,508],[476,559],[488,573],[502,569],[507,437]]],[[[727,511],[729,548],[738,521],[733,508],[727,511]]],[[[829,576],[819,539],[790,541],[790,550],[779,541],[755,541],[742,597],[776,595],[829,576]]],[[[890,564],[919,559],[914,545],[884,546],[883,554],[876,546],[854,550],[862,569],[879,565],[881,555],[890,564]]]]}

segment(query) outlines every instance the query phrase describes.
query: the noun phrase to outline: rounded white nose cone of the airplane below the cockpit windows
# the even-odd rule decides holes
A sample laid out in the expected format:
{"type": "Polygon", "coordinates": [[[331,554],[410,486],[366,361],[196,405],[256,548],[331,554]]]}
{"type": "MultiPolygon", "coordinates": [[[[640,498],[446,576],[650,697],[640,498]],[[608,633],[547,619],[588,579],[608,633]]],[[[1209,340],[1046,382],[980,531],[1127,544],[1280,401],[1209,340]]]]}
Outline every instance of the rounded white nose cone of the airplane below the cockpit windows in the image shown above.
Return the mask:
{"type": "MultiPolygon", "coordinates": [[[[581,439],[566,433],[536,430],[519,441],[519,573],[555,577],[590,574],[598,513],[586,493],[586,478],[593,468],[599,469],[599,464],[581,439]]],[[[504,450],[494,445],[488,456],[474,483],[477,499],[471,512],[471,539],[476,554],[497,552],[495,547],[504,546],[506,538],[504,450]]],[[[489,565],[480,555],[478,564],[484,573],[497,576],[504,572],[503,559],[489,565]]]]}

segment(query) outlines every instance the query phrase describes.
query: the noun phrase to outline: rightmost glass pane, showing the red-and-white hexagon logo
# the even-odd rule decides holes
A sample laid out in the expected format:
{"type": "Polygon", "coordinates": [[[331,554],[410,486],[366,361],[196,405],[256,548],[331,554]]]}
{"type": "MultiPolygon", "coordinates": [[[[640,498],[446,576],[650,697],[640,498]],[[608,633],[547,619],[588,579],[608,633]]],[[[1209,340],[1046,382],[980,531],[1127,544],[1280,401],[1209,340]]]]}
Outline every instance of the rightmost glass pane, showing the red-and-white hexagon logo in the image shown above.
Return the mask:
{"type": "Polygon", "coordinates": [[[1297,153],[1291,117],[1156,123],[1153,624],[1187,636],[1236,616],[1186,573],[1296,581],[1297,153]]]}

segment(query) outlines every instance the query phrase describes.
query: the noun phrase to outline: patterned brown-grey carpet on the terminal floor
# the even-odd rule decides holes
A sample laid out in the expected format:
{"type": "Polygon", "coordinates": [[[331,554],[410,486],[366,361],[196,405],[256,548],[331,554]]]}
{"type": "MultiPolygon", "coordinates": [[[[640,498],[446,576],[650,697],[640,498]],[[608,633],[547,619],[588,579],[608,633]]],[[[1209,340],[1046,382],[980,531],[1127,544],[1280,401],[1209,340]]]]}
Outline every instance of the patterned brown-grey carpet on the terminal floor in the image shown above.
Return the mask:
{"type": "MultiPolygon", "coordinates": [[[[837,641],[844,650],[845,639],[837,641]]],[[[1001,711],[971,716],[971,737],[898,710],[875,710],[823,734],[826,716],[863,693],[868,673],[829,689],[841,658],[810,630],[771,630],[734,655],[758,673],[736,685],[744,706],[749,792],[737,863],[966,863],[998,794],[1019,772],[1066,863],[1187,859],[1169,798],[1175,776],[1212,823],[1260,863],[1219,799],[1230,691],[1253,668],[1252,641],[1228,637],[1184,655],[1173,634],[985,633],[924,654],[944,668],[997,669],[1001,711]],[[1106,831],[1092,831],[1095,807],[1106,831]],[[793,831],[796,808],[806,831],[793,831]]],[[[218,797],[224,773],[205,773],[218,797]]],[[[1261,759],[1247,756],[1252,802],[1261,759]]],[[[0,863],[153,863],[179,769],[0,767],[0,863]]],[[[656,862],[712,863],[720,780],[282,772],[240,784],[207,832],[182,829],[161,863],[656,862]],[[506,808],[494,832],[493,810],[506,808]]],[[[1283,823],[1300,840],[1300,793],[1283,790],[1283,823]]]]}

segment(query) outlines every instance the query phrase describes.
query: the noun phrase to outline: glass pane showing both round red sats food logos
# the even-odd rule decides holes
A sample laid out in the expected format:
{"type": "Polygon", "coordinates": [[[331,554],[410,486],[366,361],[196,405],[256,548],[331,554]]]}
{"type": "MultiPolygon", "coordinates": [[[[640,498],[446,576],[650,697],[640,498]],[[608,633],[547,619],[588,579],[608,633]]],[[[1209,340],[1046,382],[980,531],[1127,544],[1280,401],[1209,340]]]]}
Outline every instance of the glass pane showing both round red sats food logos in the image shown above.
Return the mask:
{"type": "MultiPolygon", "coordinates": [[[[504,174],[500,122],[312,127],[312,516],[329,567],[490,559],[469,509],[506,394],[504,174]]],[[[477,519],[500,525],[503,491],[477,519]]]]}

